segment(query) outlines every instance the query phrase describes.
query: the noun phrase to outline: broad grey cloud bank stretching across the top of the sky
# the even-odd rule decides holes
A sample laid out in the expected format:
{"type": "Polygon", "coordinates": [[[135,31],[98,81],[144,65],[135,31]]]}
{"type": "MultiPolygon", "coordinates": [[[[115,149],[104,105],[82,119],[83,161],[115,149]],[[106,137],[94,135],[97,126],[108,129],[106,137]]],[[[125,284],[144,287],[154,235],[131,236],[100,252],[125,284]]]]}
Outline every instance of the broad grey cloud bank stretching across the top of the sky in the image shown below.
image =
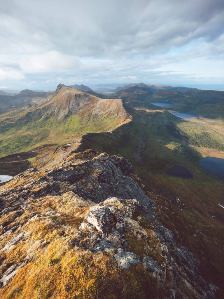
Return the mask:
{"type": "Polygon", "coordinates": [[[36,48],[97,58],[154,54],[194,39],[215,40],[224,32],[222,0],[67,0],[63,5],[9,0],[3,7],[0,25],[8,43],[1,45],[16,53],[36,48]]]}

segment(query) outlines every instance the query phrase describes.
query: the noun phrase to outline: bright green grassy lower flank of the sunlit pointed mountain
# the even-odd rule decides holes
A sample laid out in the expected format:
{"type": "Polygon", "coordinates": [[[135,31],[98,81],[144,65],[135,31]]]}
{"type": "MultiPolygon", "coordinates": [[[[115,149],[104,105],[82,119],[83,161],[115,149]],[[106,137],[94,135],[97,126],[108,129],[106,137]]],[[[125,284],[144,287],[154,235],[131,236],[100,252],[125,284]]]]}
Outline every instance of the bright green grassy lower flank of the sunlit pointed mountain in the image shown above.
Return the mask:
{"type": "MultiPolygon", "coordinates": [[[[8,123],[8,121],[6,121],[8,123]]],[[[4,122],[3,122],[4,123],[4,122]]],[[[117,118],[104,116],[71,115],[61,123],[46,112],[38,121],[30,120],[25,125],[13,126],[0,134],[0,157],[27,151],[42,144],[63,144],[80,138],[89,132],[113,130],[118,125],[117,118]]],[[[3,125],[2,125],[3,126],[3,125]]]]}

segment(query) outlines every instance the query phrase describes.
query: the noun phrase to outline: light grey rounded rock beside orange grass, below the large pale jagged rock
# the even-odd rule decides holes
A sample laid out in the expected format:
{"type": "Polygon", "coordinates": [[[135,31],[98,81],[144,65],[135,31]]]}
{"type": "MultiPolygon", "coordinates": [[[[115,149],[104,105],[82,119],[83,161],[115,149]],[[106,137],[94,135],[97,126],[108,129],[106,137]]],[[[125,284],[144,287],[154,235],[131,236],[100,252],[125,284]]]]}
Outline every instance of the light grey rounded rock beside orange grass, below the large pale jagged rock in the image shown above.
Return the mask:
{"type": "Polygon", "coordinates": [[[138,263],[141,263],[140,257],[133,252],[121,252],[114,254],[114,259],[117,262],[117,266],[122,269],[129,269],[138,263]]]}

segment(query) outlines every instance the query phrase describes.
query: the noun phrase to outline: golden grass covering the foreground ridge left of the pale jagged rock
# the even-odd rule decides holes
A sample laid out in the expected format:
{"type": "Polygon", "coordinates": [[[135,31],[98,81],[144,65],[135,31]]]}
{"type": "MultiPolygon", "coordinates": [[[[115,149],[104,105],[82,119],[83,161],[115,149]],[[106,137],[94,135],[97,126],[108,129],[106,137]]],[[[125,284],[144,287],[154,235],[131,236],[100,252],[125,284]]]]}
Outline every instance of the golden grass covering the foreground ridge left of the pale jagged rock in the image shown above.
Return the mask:
{"type": "MultiPolygon", "coordinates": [[[[77,234],[79,225],[93,202],[72,192],[62,196],[45,196],[33,200],[30,210],[12,212],[1,217],[8,228],[19,229],[5,242],[22,231],[23,241],[0,253],[1,270],[17,263],[24,265],[0,291],[2,299],[146,299],[157,298],[159,286],[141,264],[129,270],[117,268],[113,252],[92,253],[95,241],[88,232],[77,234]],[[49,215],[48,212],[53,211],[49,215]],[[34,214],[43,217],[27,222],[34,214]],[[77,242],[79,246],[71,245],[77,242]],[[149,297],[150,294],[150,297],[149,297]]],[[[3,245],[4,245],[3,244],[3,245]]],[[[2,245],[2,246],[3,246],[2,245]]],[[[2,247],[1,246],[1,247],[2,247]]]]}

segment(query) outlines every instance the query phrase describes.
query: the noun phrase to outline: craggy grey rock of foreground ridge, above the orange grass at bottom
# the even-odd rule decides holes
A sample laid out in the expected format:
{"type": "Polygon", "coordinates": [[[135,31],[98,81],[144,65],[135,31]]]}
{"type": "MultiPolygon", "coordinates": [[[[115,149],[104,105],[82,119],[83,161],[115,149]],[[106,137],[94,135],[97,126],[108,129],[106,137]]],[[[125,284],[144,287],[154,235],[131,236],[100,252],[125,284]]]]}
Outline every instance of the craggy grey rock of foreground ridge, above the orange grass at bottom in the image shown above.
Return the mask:
{"type": "MultiPolygon", "coordinates": [[[[134,180],[131,164],[119,155],[93,149],[73,153],[51,170],[30,169],[15,176],[0,189],[0,196],[3,289],[13,285],[19,271],[44,252],[58,231],[80,251],[78,261],[85,252],[111,257],[120,271],[141,267],[164,289],[163,298],[216,298],[216,288],[203,280],[199,262],[158,221],[154,202],[134,180]],[[77,225],[81,211],[85,216],[77,225]],[[7,254],[14,250],[24,255],[12,265],[7,254]]],[[[48,263],[58,260],[50,258],[48,263]]]]}

